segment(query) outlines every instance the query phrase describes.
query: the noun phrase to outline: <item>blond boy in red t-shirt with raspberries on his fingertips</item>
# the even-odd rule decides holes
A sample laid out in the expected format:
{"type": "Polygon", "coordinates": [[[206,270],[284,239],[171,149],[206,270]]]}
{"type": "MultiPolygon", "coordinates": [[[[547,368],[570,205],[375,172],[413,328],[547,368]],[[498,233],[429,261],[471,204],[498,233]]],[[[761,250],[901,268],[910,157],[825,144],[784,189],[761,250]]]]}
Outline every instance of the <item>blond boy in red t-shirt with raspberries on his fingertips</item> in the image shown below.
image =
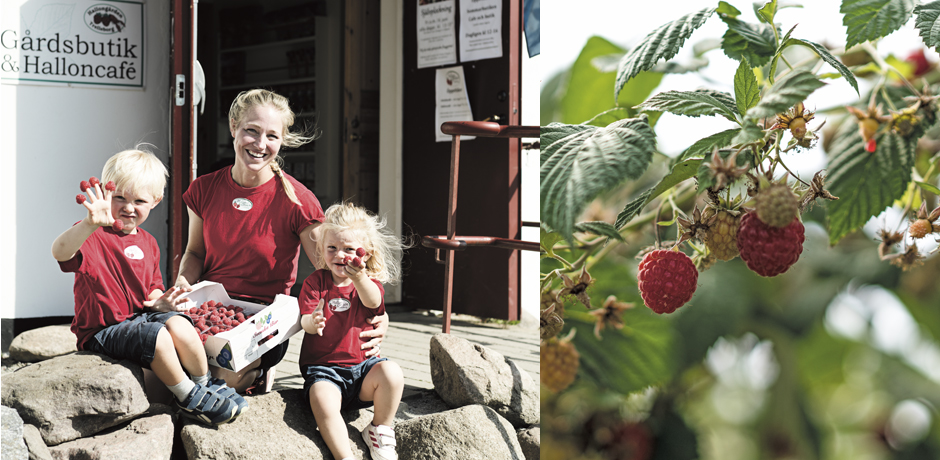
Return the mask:
{"type": "Polygon", "coordinates": [[[82,181],[88,200],[76,199],[88,215],[55,239],[52,256],[63,272],[75,273],[72,332],[78,349],[151,369],[174,394],[181,414],[220,425],[235,419],[244,399],[223,382],[210,381],[202,341],[192,320],[178,311],[186,290],[163,292],[160,248],[140,228],[163,199],[166,176],[152,153],[112,156],[103,183],[82,181]]]}

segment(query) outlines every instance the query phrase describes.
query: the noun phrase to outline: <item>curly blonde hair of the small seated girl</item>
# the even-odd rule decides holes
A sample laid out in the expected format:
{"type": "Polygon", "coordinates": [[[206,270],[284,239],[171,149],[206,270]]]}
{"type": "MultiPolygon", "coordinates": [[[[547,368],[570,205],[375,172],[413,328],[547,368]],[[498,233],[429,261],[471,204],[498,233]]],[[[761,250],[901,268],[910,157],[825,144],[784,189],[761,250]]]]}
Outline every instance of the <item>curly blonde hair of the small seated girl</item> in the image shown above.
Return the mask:
{"type": "Polygon", "coordinates": [[[370,278],[385,284],[396,284],[401,280],[402,255],[410,245],[392,234],[385,218],[347,202],[330,206],[324,215],[317,240],[320,253],[317,268],[327,268],[323,257],[327,233],[350,232],[371,255],[365,267],[370,278]]]}

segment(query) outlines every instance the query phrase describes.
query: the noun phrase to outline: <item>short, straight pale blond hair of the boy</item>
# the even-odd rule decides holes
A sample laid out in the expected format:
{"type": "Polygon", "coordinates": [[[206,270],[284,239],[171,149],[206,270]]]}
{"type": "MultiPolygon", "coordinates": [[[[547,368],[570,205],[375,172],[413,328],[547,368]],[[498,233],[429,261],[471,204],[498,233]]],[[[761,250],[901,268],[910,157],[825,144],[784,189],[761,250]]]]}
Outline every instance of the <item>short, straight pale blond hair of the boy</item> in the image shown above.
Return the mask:
{"type": "Polygon", "coordinates": [[[134,194],[147,192],[154,199],[163,198],[166,178],[169,173],[163,162],[153,153],[141,150],[138,145],[133,149],[114,154],[101,170],[101,182],[113,181],[118,190],[134,194]]]}

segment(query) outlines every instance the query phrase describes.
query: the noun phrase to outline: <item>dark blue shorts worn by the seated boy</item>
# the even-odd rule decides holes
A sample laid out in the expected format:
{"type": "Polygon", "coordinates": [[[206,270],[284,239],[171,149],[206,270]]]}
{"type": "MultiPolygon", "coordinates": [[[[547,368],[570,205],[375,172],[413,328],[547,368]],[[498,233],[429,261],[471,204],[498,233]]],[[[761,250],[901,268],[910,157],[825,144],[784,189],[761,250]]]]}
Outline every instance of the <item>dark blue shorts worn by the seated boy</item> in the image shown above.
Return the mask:
{"type": "Polygon", "coordinates": [[[157,334],[166,327],[170,318],[180,315],[190,323],[190,317],[178,312],[145,311],[108,326],[95,334],[94,340],[85,344],[85,349],[110,356],[126,359],[134,364],[150,369],[153,354],[157,349],[157,334]]]}

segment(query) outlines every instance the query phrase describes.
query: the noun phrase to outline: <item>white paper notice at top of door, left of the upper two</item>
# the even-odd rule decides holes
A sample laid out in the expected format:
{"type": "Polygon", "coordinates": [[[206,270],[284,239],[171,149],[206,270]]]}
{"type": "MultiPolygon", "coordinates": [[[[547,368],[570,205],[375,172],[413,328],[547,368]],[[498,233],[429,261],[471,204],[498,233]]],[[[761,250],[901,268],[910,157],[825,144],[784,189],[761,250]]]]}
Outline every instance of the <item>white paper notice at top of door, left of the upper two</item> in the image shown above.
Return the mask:
{"type": "Polygon", "coordinates": [[[418,2],[418,68],[457,62],[454,0],[418,2]]]}

